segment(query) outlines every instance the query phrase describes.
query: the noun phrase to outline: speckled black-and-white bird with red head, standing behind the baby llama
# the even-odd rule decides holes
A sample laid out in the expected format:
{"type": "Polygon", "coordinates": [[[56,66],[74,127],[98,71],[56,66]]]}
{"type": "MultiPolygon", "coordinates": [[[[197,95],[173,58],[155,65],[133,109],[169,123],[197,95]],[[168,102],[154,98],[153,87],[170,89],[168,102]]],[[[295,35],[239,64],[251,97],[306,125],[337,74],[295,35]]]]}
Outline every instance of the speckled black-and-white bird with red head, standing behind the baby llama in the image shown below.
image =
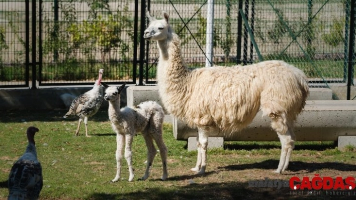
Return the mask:
{"type": "MultiPolygon", "coordinates": [[[[79,135],[79,128],[81,121],[84,121],[85,124],[85,136],[89,137],[87,130],[88,117],[95,115],[100,106],[104,101],[103,88],[102,88],[102,75],[104,70],[99,70],[99,78],[95,82],[93,89],[80,94],[75,99],[69,108],[69,111],[63,116],[64,118],[76,115],[79,117],[78,127],[75,131],[75,135],[79,135]]],[[[104,84],[103,84],[104,85],[104,84]]]]}

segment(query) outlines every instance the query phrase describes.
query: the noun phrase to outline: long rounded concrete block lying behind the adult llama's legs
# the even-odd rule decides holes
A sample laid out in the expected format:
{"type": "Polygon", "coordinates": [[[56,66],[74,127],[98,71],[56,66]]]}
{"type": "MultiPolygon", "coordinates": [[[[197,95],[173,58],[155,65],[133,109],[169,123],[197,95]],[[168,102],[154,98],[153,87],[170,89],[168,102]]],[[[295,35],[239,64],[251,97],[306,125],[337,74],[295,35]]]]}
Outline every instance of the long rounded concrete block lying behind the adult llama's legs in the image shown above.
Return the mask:
{"type": "MultiPolygon", "coordinates": [[[[304,111],[298,116],[294,132],[297,141],[337,141],[339,136],[356,136],[356,101],[307,101],[304,111]]],[[[188,140],[197,136],[197,129],[185,122],[173,119],[173,136],[188,140]]],[[[271,119],[258,112],[253,121],[240,132],[224,134],[215,131],[215,137],[224,141],[279,141],[271,128],[271,119]]]]}

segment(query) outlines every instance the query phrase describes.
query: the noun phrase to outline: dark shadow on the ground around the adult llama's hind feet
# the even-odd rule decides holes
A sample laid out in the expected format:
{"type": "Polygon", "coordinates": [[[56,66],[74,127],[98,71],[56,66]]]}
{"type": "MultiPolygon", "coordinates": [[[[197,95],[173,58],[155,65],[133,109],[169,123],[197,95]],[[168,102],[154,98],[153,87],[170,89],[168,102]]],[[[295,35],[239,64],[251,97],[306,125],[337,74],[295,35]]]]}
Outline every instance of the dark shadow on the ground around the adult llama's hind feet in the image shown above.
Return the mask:
{"type": "MultiPolygon", "coordinates": [[[[233,164],[219,169],[225,170],[245,170],[245,169],[276,169],[278,166],[279,160],[269,159],[262,162],[255,162],[249,164],[233,164]]],[[[332,169],[338,171],[354,171],[356,165],[354,164],[345,164],[345,163],[336,163],[336,162],[301,162],[301,161],[291,161],[289,162],[288,171],[299,172],[305,170],[307,172],[314,172],[320,169],[332,169]]]]}

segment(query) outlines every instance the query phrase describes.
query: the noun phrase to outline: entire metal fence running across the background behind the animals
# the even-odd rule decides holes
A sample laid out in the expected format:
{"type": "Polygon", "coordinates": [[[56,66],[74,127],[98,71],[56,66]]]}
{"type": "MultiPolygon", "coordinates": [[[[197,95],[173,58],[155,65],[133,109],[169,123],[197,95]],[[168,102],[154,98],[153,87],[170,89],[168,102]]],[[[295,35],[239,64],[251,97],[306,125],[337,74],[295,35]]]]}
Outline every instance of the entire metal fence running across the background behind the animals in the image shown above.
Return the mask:
{"type": "MultiPolygon", "coordinates": [[[[146,9],[167,12],[186,64],[205,66],[207,0],[13,0],[0,9],[0,87],[92,84],[100,68],[109,83],[155,83],[158,50],[140,34],[146,9]]],[[[354,0],[215,0],[211,62],[285,60],[311,87],[352,99],[351,12],[354,0]]]]}

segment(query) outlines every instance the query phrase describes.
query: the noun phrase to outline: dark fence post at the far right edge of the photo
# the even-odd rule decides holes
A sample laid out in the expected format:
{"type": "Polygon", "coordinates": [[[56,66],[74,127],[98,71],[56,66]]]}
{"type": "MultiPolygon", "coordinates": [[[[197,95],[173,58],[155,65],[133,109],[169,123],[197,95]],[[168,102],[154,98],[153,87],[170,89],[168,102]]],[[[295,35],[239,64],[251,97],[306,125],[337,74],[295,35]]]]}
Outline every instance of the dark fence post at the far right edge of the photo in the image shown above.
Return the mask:
{"type": "Polygon", "coordinates": [[[353,58],[355,42],[355,0],[351,0],[350,34],[348,42],[348,69],[347,69],[347,100],[350,100],[351,84],[353,85],[353,58]]]}

